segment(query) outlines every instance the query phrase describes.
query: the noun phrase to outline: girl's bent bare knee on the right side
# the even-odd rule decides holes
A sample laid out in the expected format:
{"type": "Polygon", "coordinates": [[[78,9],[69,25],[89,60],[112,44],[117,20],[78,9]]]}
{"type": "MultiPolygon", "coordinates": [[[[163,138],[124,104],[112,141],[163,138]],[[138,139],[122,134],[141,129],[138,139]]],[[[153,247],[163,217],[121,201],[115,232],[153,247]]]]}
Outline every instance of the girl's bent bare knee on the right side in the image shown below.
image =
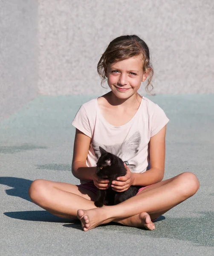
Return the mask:
{"type": "Polygon", "coordinates": [[[183,172],[180,177],[182,178],[182,186],[184,189],[184,192],[189,194],[190,196],[194,195],[199,187],[200,183],[196,175],[192,172],[183,172]]]}

